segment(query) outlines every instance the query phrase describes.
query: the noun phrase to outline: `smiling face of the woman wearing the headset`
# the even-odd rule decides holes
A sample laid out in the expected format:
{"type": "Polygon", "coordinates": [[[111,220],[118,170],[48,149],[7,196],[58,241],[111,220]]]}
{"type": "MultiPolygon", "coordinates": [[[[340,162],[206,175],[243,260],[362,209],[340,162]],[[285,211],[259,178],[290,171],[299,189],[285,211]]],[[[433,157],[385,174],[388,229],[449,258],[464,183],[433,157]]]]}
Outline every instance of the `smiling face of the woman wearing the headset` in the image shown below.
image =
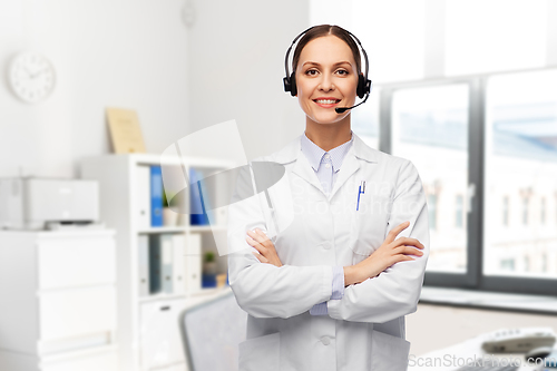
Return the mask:
{"type": "Polygon", "coordinates": [[[354,105],[358,72],[350,47],[333,35],[313,39],[302,49],[296,68],[297,99],[307,119],[333,124],[350,115],[335,107],[354,105]]]}

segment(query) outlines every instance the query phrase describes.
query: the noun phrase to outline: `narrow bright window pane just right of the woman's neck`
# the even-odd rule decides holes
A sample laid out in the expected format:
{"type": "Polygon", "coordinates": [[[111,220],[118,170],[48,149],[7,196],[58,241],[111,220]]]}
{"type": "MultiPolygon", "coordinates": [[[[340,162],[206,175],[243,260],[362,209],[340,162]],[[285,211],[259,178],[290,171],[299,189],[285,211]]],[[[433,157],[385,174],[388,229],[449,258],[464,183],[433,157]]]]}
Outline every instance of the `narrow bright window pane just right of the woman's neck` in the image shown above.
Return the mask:
{"type": "MultiPolygon", "coordinates": [[[[379,149],[379,88],[371,90],[368,101],[352,109],[351,126],[362,140],[371,148],[379,149]]],[[[360,100],[356,99],[356,104],[360,100]]]]}

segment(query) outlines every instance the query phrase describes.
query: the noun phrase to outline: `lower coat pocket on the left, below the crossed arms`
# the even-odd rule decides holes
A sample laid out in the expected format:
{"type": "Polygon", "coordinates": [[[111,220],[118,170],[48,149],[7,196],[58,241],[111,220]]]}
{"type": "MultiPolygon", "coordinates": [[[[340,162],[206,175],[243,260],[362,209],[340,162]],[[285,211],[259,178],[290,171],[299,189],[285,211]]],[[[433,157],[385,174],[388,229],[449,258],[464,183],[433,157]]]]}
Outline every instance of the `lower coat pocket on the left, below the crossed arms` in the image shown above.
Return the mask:
{"type": "Polygon", "coordinates": [[[278,371],[281,333],[246,340],[238,345],[240,371],[278,371]]]}

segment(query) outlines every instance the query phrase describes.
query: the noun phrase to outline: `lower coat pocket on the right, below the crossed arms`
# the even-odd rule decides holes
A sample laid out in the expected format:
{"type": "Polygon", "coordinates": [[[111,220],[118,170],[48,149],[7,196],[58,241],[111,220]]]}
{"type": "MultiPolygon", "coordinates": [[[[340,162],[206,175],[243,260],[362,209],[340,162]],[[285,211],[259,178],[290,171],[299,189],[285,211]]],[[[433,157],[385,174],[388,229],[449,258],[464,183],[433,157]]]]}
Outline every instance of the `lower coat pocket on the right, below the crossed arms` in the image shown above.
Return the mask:
{"type": "Polygon", "coordinates": [[[410,342],[377,330],[371,335],[371,371],[405,371],[410,342]]]}

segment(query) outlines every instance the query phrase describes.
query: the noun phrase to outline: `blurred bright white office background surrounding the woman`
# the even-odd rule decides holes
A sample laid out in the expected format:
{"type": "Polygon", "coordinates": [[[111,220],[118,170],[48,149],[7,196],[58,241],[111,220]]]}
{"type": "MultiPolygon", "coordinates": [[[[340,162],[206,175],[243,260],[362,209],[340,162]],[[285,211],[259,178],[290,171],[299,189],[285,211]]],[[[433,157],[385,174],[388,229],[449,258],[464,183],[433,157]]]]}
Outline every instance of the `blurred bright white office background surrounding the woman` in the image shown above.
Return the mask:
{"type": "Polygon", "coordinates": [[[0,0],[0,370],[238,370],[226,185],[303,135],[285,52],[322,23],[427,201],[408,370],[557,370],[554,0],[0,0]]]}

